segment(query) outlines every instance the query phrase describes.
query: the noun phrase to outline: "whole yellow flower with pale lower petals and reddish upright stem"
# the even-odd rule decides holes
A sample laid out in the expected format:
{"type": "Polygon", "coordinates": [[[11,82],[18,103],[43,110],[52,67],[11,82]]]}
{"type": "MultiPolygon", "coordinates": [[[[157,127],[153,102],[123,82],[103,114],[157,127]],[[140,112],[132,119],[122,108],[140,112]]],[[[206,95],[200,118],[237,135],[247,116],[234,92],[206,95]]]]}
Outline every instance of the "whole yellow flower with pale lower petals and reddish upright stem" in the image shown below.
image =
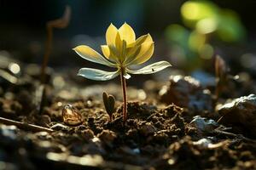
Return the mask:
{"type": "Polygon", "coordinates": [[[141,65],[151,58],[154,53],[154,42],[147,34],[136,39],[135,32],[128,24],[124,24],[117,29],[113,24],[108,26],[106,32],[107,45],[102,45],[102,54],[98,54],[94,49],[80,45],[73,50],[84,59],[109,67],[117,68],[117,71],[102,71],[92,68],[82,68],[78,75],[91,80],[107,81],[120,76],[123,90],[123,118],[127,119],[127,94],[125,79],[129,79],[131,74],[152,74],[171,66],[167,61],[159,61],[147,65],[137,71],[131,70],[131,65],[141,65]]]}

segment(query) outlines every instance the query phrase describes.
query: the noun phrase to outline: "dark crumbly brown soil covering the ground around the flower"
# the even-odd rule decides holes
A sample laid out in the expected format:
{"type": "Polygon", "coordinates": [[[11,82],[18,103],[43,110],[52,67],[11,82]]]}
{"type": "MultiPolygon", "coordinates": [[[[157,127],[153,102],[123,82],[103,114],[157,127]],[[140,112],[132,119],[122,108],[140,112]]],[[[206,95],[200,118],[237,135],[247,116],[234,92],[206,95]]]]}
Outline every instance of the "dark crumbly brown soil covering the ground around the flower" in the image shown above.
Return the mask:
{"type": "Polygon", "coordinates": [[[245,123],[236,123],[234,129],[230,122],[206,129],[192,123],[194,116],[217,122],[221,115],[211,92],[187,80],[179,88],[179,82],[174,88],[174,82],[165,83],[171,88],[164,97],[158,94],[159,82],[151,82],[154,88],[149,92],[129,88],[125,123],[119,85],[79,88],[70,81],[60,88],[51,81],[40,113],[38,77],[26,73],[18,84],[1,80],[0,116],[54,132],[0,124],[0,169],[256,169],[255,136],[243,133],[245,123]],[[118,100],[113,122],[102,103],[103,90],[118,100]],[[71,119],[81,115],[78,124],[63,122],[67,104],[71,119]]]}

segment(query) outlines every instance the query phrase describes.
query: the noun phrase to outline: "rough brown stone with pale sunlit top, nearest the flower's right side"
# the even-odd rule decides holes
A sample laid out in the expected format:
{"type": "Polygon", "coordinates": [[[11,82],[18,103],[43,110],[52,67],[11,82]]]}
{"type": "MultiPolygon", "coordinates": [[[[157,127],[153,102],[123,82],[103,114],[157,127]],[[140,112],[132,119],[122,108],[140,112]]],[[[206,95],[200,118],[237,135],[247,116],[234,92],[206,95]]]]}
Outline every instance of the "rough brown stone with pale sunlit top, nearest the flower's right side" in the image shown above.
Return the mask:
{"type": "Polygon", "coordinates": [[[160,101],[189,108],[189,111],[212,111],[211,92],[201,87],[193,77],[171,76],[170,82],[160,89],[160,101]]]}

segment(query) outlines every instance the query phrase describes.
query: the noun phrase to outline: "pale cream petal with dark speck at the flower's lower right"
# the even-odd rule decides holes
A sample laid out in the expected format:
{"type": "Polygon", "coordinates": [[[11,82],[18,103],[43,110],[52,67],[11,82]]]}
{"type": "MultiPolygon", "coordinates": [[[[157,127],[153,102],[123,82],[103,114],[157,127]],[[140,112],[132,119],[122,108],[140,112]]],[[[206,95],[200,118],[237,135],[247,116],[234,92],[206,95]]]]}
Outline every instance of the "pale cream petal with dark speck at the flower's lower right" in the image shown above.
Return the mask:
{"type": "Polygon", "coordinates": [[[156,62],[152,65],[147,65],[147,66],[145,66],[142,69],[139,69],[137,71],[131,71],[129,69],[126,69],[126,71],[131,73],[131,74],[152,74],[152,73],[155,73],[157,71],[164,70],[166,67],[169,67],[169,66],[172,66],[169,62],[159,61],[159,62],[156,62]]]}

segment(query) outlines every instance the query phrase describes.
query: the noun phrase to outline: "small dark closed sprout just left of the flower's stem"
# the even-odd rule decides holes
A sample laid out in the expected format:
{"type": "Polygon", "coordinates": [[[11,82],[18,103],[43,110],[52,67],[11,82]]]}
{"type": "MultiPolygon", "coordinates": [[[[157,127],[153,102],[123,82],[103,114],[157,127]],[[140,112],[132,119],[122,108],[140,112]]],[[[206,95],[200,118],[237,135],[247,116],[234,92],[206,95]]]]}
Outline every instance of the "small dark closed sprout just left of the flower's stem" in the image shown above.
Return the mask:
{"type": "Polygon", "coordinates": [[[102,99],[103,99],[105,109],[109,116],[109,122],[112,122],[115,99],[114,99],[113,95],[107,94],[106,92],[103,92],[102,99]]]}

